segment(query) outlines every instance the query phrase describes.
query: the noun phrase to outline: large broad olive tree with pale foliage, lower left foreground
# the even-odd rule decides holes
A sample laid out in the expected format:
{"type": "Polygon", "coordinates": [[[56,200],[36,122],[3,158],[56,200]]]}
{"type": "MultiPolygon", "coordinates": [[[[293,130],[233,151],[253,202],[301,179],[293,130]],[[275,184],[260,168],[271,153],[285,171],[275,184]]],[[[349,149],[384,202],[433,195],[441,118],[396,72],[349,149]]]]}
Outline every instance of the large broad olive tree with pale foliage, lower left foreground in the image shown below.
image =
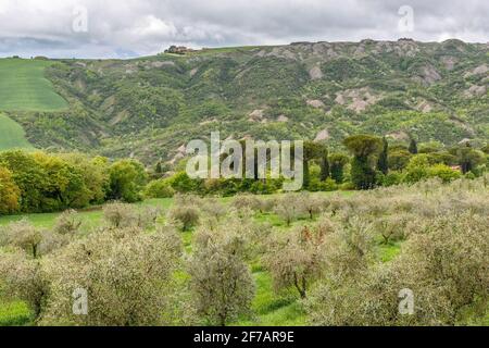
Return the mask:
{"type": "Polygon", "coordinates": [[[45,260],[50,296],[45,325],[140,326],[168,324],[173,271],[181,240],[170,228],[93,232],[45,260]],[[73,294],[85,289],[88,314],[73,312],[73,294]]]}

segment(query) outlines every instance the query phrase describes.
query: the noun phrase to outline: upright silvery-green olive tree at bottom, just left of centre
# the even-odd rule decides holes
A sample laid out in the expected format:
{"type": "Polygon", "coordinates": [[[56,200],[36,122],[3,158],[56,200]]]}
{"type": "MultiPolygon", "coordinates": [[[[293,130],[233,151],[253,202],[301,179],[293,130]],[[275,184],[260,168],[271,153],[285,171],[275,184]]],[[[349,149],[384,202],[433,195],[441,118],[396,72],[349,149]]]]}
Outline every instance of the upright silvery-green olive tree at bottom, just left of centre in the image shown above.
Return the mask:
{"type": "Polygon", "coordinates": [[[206,324],[225,326],[250,312],[254,283],[244,258],[244,238],[234,231],[197,233],[188,273],[197,313],[206,324]]]}

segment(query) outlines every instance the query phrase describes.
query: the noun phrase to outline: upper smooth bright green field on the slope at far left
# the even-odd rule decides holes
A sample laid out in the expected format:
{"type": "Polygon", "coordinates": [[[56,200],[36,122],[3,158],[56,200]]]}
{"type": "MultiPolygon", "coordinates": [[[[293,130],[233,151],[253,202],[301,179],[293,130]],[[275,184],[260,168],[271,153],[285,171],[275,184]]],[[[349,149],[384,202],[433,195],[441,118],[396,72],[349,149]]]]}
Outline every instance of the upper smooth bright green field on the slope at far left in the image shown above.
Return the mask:
{"type": "Polygon", "coordinates": [[[67,108],[46,77],[51,61],[0,59],[0,111],[57,111],[67,108]]]}

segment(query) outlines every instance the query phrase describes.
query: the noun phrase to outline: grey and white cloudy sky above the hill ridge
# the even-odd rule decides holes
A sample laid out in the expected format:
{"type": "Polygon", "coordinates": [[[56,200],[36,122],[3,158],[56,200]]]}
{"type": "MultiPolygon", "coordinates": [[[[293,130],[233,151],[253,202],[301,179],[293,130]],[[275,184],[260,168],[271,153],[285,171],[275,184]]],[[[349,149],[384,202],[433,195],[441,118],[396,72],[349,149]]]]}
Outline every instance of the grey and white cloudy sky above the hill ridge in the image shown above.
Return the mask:
{"type": "Polygon", "coordinates": [[[489,41],[488,0],[0,0],[0,57],[128,58],[170,45],[489,41]]]}

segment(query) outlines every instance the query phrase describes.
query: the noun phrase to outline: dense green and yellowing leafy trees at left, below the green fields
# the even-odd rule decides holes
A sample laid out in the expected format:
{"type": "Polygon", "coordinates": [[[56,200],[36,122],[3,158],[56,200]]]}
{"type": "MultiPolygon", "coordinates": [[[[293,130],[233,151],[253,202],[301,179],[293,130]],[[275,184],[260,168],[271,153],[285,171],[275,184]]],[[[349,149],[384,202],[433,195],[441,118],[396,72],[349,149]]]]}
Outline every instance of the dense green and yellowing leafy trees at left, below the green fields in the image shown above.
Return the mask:
{"type": "Polygon", "coordinates": [[[0,153],[0,213],[80,209],[108,200],[135,202],[147,182],[135,160],[111,163],[80,153],[0,153]]]}

